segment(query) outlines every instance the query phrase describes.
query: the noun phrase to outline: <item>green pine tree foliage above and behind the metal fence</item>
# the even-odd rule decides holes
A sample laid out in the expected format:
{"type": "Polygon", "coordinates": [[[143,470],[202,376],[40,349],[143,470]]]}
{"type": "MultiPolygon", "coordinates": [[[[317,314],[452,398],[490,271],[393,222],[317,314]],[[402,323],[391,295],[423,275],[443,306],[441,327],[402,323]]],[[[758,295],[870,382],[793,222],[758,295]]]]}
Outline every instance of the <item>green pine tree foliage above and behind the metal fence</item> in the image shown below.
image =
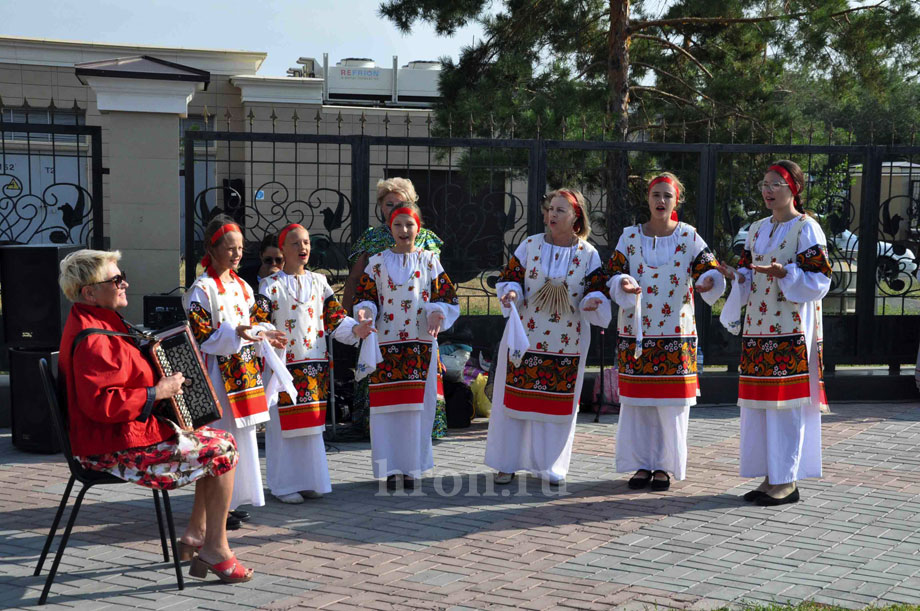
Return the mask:
{"type": "MultiPolygon", "coordinates": [[[[404,32],[482,26],[459,61],[443,59],[443,135],[801,143],[852,128],[909,142],[920,112],[915,0],[385,0],[380,13],[404,32]]],[[[641,208],[637,179],[681,163],[558,155],[548,182],[600,185],[611,235],[641,208]]],[[[756,161],[741,172],[752,184],[756,161]]]]}

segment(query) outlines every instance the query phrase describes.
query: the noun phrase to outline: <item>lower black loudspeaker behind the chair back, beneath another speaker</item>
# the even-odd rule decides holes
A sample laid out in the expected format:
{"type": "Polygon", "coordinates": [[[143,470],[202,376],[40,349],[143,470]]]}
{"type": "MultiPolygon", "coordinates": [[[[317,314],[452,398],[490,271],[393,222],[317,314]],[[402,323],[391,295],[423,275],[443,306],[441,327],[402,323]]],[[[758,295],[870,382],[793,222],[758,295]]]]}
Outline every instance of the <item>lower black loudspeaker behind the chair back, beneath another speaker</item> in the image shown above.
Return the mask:
{"type": "Polygon", "coordinates": [[[56,348],[10,348],[13,445],[25,452],[56,454],[61,451],[38,372],[40,359],[48,359],[51,371],[57,372],[57,357],[56,348]]]}

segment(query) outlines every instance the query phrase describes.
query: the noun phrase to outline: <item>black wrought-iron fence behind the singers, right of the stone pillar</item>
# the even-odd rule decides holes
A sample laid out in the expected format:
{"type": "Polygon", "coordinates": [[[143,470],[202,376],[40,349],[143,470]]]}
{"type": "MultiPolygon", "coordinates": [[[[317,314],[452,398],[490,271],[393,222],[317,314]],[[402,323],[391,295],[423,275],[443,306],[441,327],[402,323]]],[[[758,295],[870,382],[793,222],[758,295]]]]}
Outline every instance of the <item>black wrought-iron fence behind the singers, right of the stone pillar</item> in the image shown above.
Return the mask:
{"type": "MultiPolygon", "coordinates": [[[[419,192],[426,225],[445,242],[442,261],[460,287],[461,324],[489,345],[501,332],[494,281],[517,244],[542,231],[540,203],[548,188],[567,185],[585,193],[590,239],[607,256],[618,238],[609,235],[610,207],[628,222],[643,220],[645,179],[674,171],[688,188],[682,219],[698,228],[720,259],[731,261],[747,225],[766,215],[754,185],[770,161],[789,158],[806,172],[806,208],[828,237],[834,275],[824,302],[828,368],[896,368],[916,355],[920,147],[444,137],[431,135],[430,121],[410,125],[408,115],[392,122],[386,117],[383,133],[375,135],[364,133],[362,115],[360,130],[354,129],[359,133],[342,134],[341,115],[329,133],[329,121],[319,114],[311,122],[296,112],[282,120],[274,111],[271,130],[259,131],[251,111],[247,119],[249,129],[244,123],[240,131],[230,129],[229,117],[225,130],[205,117],[204,129],[184,135],[188,261],[200,258],[203,228],[215,210],[235,216],[250,244],[299,222],[311,232],[311,265],[340,287],[352,244],[382,222],[376,181],[405,176],[419,192]],[[284,129],[277,127],[282,123],[284,129]],[[626,156],[631,168],[625,196],[606,187],[613,156],[626,156]]],[[[185,274],[190,283],[195,267],[187,265],[185,274]]],[[[708,306],[698,305],[697,324],[705,362],[736,366],[739,342],[708,306]]],[[[607,363],[613,344],[606,342],[607,363]]],[[[600,348],[595,341],[592,362],[600,348]]]]}

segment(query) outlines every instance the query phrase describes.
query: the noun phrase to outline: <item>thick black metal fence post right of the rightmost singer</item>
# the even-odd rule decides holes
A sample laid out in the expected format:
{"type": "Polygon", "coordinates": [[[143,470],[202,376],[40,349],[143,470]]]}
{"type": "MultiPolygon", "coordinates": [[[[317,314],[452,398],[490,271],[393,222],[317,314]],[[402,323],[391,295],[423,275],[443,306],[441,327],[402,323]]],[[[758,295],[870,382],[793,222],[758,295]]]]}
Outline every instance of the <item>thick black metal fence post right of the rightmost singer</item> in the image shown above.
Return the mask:
{"type": "Polygon", "coordinates": [[[878,265],[878,213],[882,188],[881,147],[865,147],[859,205],[859,252],[856,258],[856,354],[864,362],[875,355],[875,276],[878,265]]]}

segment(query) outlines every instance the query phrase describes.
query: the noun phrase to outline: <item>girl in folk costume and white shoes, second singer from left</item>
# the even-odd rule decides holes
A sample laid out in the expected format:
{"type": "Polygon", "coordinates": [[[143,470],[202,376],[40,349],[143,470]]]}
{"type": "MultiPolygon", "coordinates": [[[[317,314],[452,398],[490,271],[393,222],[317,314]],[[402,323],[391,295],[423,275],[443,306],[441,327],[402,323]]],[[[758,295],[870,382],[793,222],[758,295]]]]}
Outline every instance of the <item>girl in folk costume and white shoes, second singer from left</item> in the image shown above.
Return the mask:
{"type": "MultiPolygon", "coordinates": [[[[357,344],[370,333],[371,321],[358,325],[345,314],[322,274],[304,269],[310,258],[310,234],[298,224],[281,230],[278,244],[284,268],[259,285],[260,312],[288,334],[284,361],[297,396],[269,391],[271,419],[265,431],[268,488],[283,503],[302,503],[332,491],[323,432],[329,395],[327,342],[357,344]]],[[[274,385],[269,383],[269,389],[274,385]]]]}

